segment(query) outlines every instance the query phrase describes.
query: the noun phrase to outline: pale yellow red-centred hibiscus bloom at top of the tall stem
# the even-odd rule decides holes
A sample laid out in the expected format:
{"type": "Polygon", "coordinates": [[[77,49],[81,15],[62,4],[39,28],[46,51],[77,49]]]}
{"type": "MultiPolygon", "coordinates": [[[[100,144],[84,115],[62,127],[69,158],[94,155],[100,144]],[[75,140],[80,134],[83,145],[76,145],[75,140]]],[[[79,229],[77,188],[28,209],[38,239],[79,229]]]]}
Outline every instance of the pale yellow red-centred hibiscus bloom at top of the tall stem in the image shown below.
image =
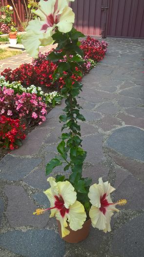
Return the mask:
{"type": "Polygon", "coordinates": [[[54,12],[56,0],[40,0],[35,5],[38,7],[33,12],[39,16],[29,22],[22,44],[27,52],[34,58],[38,57],[39,46],[52,43],[52,35],[58,30],[67,33],[72,29],[75,14],[68,6],[67,0],[58,0],[58,8],[54,12]],[[41,19],[40,19],[41,18],[41,19]]]}

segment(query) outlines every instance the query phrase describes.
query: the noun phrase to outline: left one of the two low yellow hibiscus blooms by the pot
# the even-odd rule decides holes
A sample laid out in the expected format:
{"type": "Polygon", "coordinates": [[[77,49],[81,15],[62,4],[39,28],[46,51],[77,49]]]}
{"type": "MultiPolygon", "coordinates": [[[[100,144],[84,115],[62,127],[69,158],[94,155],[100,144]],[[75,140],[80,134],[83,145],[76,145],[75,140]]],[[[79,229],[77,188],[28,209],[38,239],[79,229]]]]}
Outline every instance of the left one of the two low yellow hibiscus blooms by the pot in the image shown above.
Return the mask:
{"type": "Polygon", "coordinates": [[[69,234],[69,230],[66,229],[69,223],[69,227],[77,231],[82,228],[84,221],[86,220],[86,213],[83,205],[77,201],[77,194],[74,191],[75,188],[68,181],[57,182],[53,177],[47,179],[50,183],[50,188],[44,191],[50,201],[51,208],[38,209],[34,214],[41,214],[46,210],[51,210],[50,217],[56,217],[60,221],[62,227],[62,237],[69,234]]]}

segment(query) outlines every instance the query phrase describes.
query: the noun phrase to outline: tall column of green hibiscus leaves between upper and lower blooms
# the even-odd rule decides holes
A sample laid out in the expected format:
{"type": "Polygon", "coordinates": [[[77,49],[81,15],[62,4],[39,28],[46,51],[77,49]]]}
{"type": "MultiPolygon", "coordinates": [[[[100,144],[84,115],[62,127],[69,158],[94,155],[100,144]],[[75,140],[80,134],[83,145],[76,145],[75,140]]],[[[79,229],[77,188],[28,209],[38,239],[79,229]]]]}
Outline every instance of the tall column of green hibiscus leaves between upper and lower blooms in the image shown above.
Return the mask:
{"type": "MultiPolygon", "coordinates": [[[[82,149],[82,139],[81,139],[81,127],[78,124],[78,120],[84,121],[85,118],[80,113],[81,106],[77,102],[79,93],[82,91],[82,83],[74,80],[71,76],[72,74],[82,75],[80,71],[77,71],[78,63],[83,63],[83,51],[79,47],[80,42],[79,37],[84,35],[73,28],[68,33],[62,33],[56,31],[52,36],[54,44],[58,44],[56,50],[58,52],[51,52],[48,55],[48,60],[57,62],[58,60],[63,60],[59,62],[57,70],[54,72],[53,80],[59,79],[63,71],[66,71],[68,75],[64,78],[65,85],[63,85],[61,94],[62,98],[65,98],[65,108],[63,111],[65,114],[61,115],[60,122],[64,122],[62,130],[67,129],[67,131],[62,133],[62,141],[59,143],[58,157],[52,159],[46,166],[46,174],[48,175],[53,168],[58,165],[65,164],[64,171],[71,169],[71,174],[68,180],[75,191],[77,192],[77,199],[80,201],[85,210],[90,209],[88,191],[91,184],[90,178],[82,178],[82,165],[86,157],[86,152],[82,149]],[[60,51],[60,49],[62,49],[60,51]],[[73,55],[72,58],[69,56],[73,55]]],[[[56,181],[64,181],[64,176],[58,175],[56,181]]]]}

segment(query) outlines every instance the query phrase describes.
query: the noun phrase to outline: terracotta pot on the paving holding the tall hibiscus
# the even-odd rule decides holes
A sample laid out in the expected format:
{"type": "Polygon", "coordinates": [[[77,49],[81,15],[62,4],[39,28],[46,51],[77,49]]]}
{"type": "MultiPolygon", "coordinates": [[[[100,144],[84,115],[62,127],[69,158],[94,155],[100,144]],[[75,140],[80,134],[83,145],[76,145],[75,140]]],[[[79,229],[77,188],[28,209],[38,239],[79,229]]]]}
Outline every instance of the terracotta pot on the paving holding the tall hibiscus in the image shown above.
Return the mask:
{"type": "Polygon", "coordinates": [[[68,234],[64,237],[62,237],[61,223],[59,220],[57,220],[57,222],[58,222],[59,234],[60,234],[61,238],[68,243],[78,243],[78,242],[84,240],[89,234],[91,219],[85,221],[83,223],[82,229],[77,230],[77,231],[71,230],[69,226],[66,227],[66,229],[68,229],[70,231],[70,234],[68,234]]]}

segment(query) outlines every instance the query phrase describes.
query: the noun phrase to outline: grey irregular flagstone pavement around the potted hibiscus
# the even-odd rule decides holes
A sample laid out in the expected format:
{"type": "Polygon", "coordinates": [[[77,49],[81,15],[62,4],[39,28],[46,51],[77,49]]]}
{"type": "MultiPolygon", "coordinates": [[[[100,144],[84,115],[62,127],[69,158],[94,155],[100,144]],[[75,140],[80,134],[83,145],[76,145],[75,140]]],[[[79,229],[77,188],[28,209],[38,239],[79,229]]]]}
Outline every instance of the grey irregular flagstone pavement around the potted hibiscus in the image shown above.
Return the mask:
{"type": "MultiPolygon", "coordinates": [[[[91,228],[78,244],[60,239],[48,213],[32,215],[49,207],[44,169],[60,140],[62,102],[0,161],[0,257],[144,257],[144,41],[106,41],[107,54],[83,78],[79,100],[86,118],[83,176],[108,179],[117,188],[113,201],[125,198],[127,205],[112,217],[112,232],[91,228]]],[[[63,173],[59,167],[52,175],[63,173]]]]}

